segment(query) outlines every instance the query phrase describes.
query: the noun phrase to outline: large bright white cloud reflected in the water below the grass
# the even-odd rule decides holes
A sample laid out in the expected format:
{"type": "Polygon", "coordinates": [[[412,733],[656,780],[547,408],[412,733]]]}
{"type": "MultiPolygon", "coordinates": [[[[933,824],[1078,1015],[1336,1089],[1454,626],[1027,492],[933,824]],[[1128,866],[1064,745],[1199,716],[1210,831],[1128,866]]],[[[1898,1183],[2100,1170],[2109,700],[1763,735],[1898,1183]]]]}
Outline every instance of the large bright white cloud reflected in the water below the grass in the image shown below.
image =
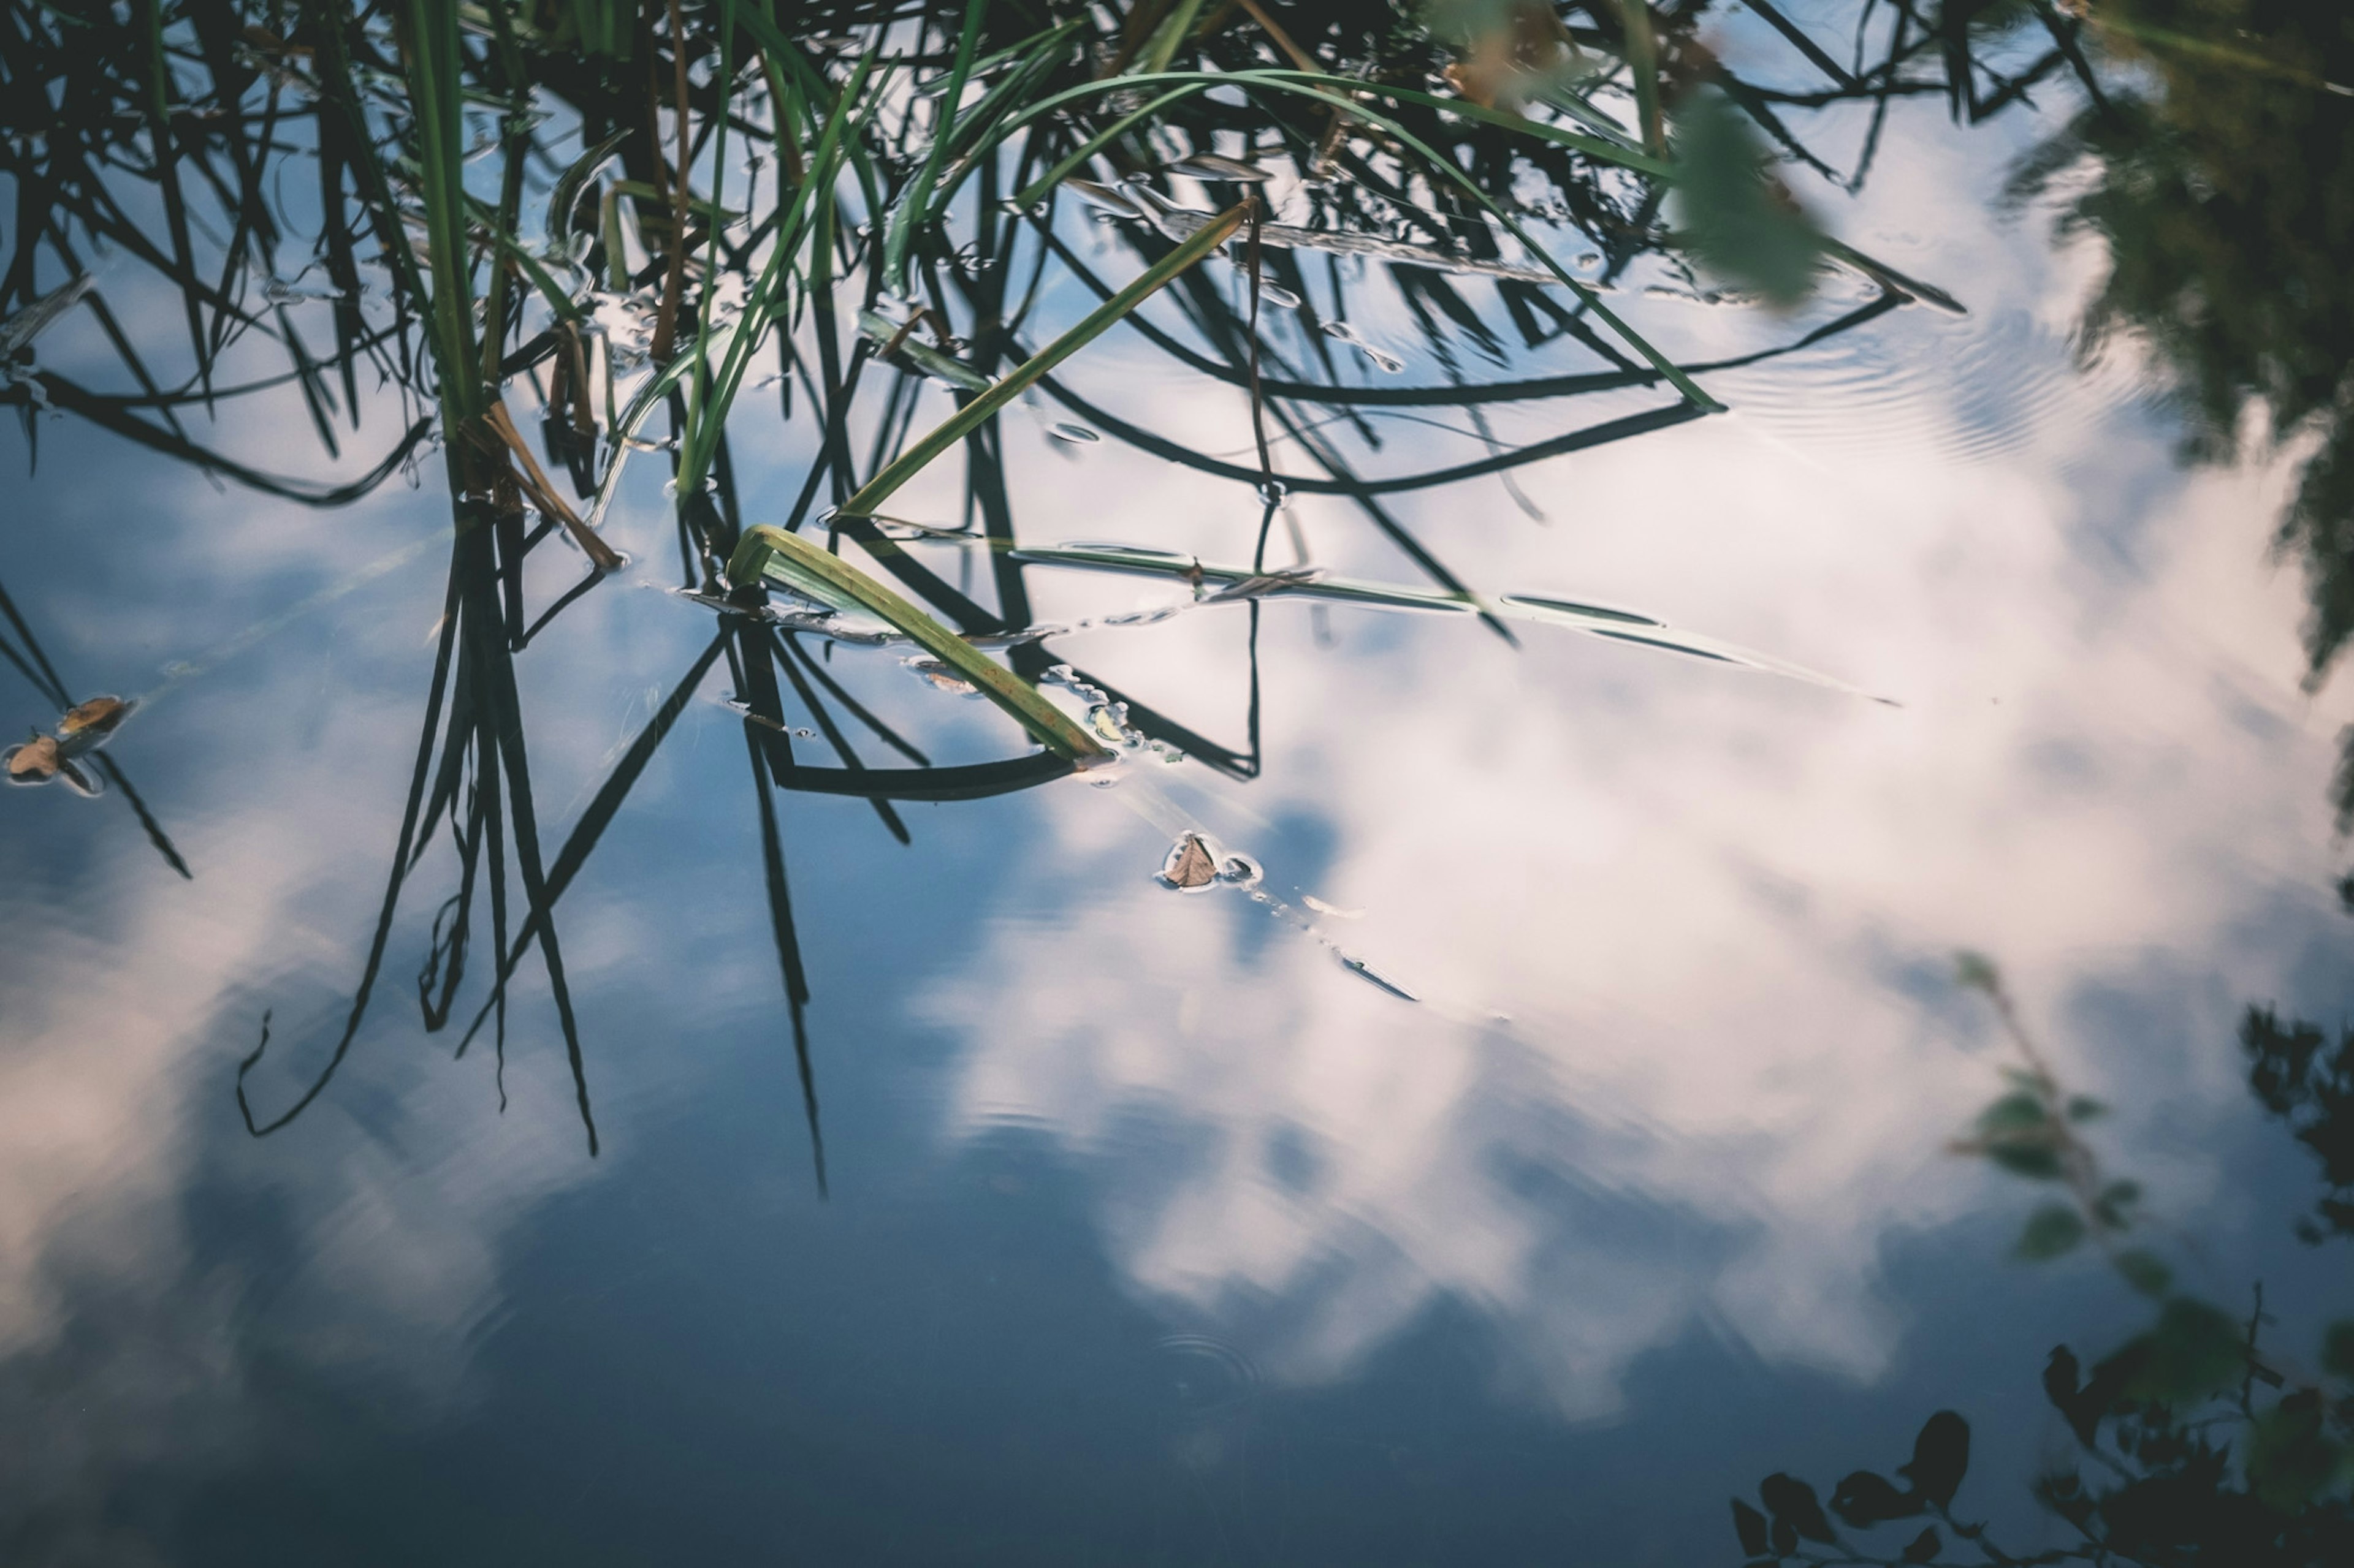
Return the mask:
{"type": "MultiPolygon", "coordinates": [[[[1951,177],[1888,179],[1862,221],[1951,177]]],[[[1283,897],[1299,873],[1269,824],[1321,819],[1337,857],[1299,890],[1365,909],[1332,932],[1441,1005],[1269,942],[1236,899],[1158,895],[1153,831],[1066,791],[1033,857],[1052,871],[923,1003],[970,1038],[953,1135],[1064,1144],[1130,1288],[1278,1377],[1344,1377],[1457,1300],[1523,1391],[1596,1417],[1638,1354],[1707,1326],[1857,1380],[1888,1363],[1883,1248],[1982,1194],[1940,1154],[1989,1081],[1975,1024],[1940,1012],[1956,946],[1999,951],[2053,1017],[2119,979],[2180,1001],[2180,1038],[2076,1041],[2121,1137],[2232,1104],[2234,1005],[2283,977],[2255,928],[2330,918],[2342,704],[2298,690],[2298,586],[2267,556],[2281,471],[2185,476],[2130,367],[2067,381],[2048,323],[2081,254],[1973,233],[1944,266],[1977,313],[1909,313],[1890,332],[1921,341],[1893,353],[1975,334],[1949,363],[2034,386],[2024,419],[1909,377],[1869,445],[1735,414],[1525,471],[1554,532],[1502,497],[1467,525],[1476,487],[1408,516],[1455,530],[1471,582],[1660,610],[1902,711],[1427,622],[1335,617],[1323,657],[1274,605],[1266,779],[1203,819],[1283,897]],[[1095,892],[1057,909],[1071,866],[1095,892]]],[[[1848,363],[1744,391],[1806,407],[1810,374],[1853,391],[1848,363]]],[[[1233,527],[1229,497],[1168,471],[1102,483],[1233,527]]],[[[1346,513],[1295,506],[1318,558],[1358,565],[1346,513]]],[[[1052,584],[1040,614],[1088,593],[1052,584]]],[[[1095,666],[1233,706],[1241,629],[1210,619],[1104,638],[1095,666]]],[[[2177,1156],[2170,1180],[2199,1203],[2210,1168],[2177,1156]]]]}

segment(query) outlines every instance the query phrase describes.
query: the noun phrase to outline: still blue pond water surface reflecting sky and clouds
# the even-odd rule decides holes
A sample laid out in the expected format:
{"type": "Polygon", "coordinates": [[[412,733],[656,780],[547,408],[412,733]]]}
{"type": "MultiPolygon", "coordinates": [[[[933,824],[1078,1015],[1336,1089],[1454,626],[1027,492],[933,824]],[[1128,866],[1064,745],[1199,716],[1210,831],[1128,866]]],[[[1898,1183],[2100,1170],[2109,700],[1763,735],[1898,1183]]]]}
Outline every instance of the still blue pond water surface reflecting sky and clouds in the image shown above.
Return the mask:
{"type": "MultiPolygon", "coordinates": [[[[1855,9],[1787,14],[1831,40],[1855,9]]],[[[1754,12],[1707,28],[1749,80],[1806,66],[1754,12]]],[[[2159,92],[2147,59],[2100,71],[2159,92]]],[[[188,871],[120,779],[0,798],[9,1561],[1737,1563],[1728,1495],[1888,1474],[1935,1410],[1973,1434],[1954,1516],[2067,1549],[2032,1495],[2076,1448],[2043,1368],[2149,1326],[2112,1267],[2142,1236],[2185,1300],[2246,1316],[2260,1283],[2265,1342],[2316,1377],[2347,1243],[2298,1238],[2316,1165],[2239,1043],[2250,1005],[2335,1024],[2354,998],[2330,808],[2354,713],[2305,680],[2302,560],[2274,549],[2314,438],[2189,464],[2161,348],[2079,356],[2112,271],[2102,233],[2057,233],[2083,177],[2006,186],[2086,92],[2057,71],[2029,97],[1975,125],[1926,92],[1782,111],[1838,167],[1876,137],[1860,191],[1782,174],[1966,313],[1838,325],[1883,297],[1853,268],[1787,313],[1711,304],[1634,257],[1603,299],[1676,363],[1747,358],[1695,372],[1730,412],[1377,499],[1485,596],[1643,619],[1193,603],[1184,574],[911,539],[1008,622],[1066,629],[1015,669],[1130,704],[1116,765],[1036,789],[772,789],[782,732],[727,706],[763,706],[763,676],[676,593],[669,464],[640,457],[598,520],[629,565],[511,662],[563,1008],[534,951],[504,1041],[457,1052],[492,1001],[490,878],[508,939],[530,909],[523,862],[485,862],[471,972],[424,1029],[459,805],[308,1102],[424,765],[445,450],[318,509],[64,400],[9,421],[5,716],[49,730],[47,687],[137,697],[104,756],[188,871]],[[584,819],[603,831],[563,864],[584,819]],[[1259,881],[1172,890],[1184,833],[1259,881]],[[1996,996],[2053,1085],[2107,1104],[2069,1147],[2149,1215],[2107,1255],[2017,1257],[2048,1191],[1954,1151],[2032,1069],[1996,996]],[[301,1111],[254,1137],[240,1092],[261,1125],[301,1111]]],[[[1008,363],[1139,268],[1132,219],[1064,195],[1045,231],[1059,254],[1012,252],[1038,297],[1008,363]]],[[[186,356],[169,285],[122,247],[92,271],[127,339],[186,356]]],[[[1596,370],[1502,327],[1492,278],[1445,283],[1495,334],[1448,320],[1436,275],[1292,252],[1309,313],[1351,332],[1262,299],[1262,372],[1382,396],[1596,370]]],[[[1201,301],[1248,313],[1248,273],[1198,280],[998,417],[1019,546],[1248,565],[1264,523],[1269,567],[1429,589],[1316,487],[1318,452],[1431,473],[1662,407],[1271,400],[1292,485],[1269,520],[1248,388],[1170,348],[1217,358],[1201,301]]],[[[332,308],[290,304],[313,348],[332,308]]],[[[817,325],[793,330],[810,353],[817,325]]],[[[125,384],[87,308],[38,365],[125,384]]],[[[862,473],[885,379],[916,431],[953,410],[866,374],[862,473]]],[[[791,419],[749,391],[730,426],[744,525],[789,523],[822,464],[805,388],[791,419]]],[[[325,487],[414,412],[374,365],[358,391],[339,457],[292,384],[179,419],[325,487]]],[[[965,504],[951,461],[887,511],[956,527],[965,504]]],[[[534,551],[530,617],[581,572],[560,534],[534,551]]],[[[852,704],[930,763],[1029,749],[904,643],[791,645],[765,678],[796,763],[833,765],[833,727],[911,763],[852,704]]],[[[511,800],[468,779],[461,803],[511,800]]],[[[2328,1561],[2307,1549],[2241,1561],[2328,1561]]]]}

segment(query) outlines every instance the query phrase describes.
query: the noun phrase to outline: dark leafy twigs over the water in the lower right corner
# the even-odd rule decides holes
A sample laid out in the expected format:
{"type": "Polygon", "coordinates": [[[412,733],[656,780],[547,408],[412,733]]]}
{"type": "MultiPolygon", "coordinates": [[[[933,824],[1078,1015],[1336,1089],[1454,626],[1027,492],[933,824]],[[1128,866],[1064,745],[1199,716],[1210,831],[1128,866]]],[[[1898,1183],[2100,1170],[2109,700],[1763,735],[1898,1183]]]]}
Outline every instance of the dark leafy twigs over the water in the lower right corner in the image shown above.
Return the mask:
{"type": "MultiPolygon", "coordinates": [[[[2043,1368],[2043,1394],[2074,1434],[2076,1457],[2050,1464],[2034,1497],[2076,1540],[2013,1554],[1987,1537],[1984,1523],[1956,1519],[1951,1502],[1968,1467],[1970,1429],[1961,1415],[1940,1410],[1921,1429],[1911,1462],[1897,1469],[1904,1488],[1855,1471],[1834,1488],[1827,1514],[1815,1488],[1777,1474],[1758,1488],[1763,1511],[1735,1500],[1744,1554],[1751,1563],[1897,1568],[1942,1561],[1951,1535],[2003,1566],[2354,1561],[2354,1318],[2323,1335],[2319,1373],[2293,1373],[2260,1347],[2272,1321],[2262,1288],[2246,1318],[2175,1293],[2173,1271],[2154,1253],[2123,1245],[2144,1217],[2133,1184],[2102,1182],[2097,1154],[2076,1132],[2093,1102],[2060,1088],[1991,963],[1963,956],[1961,982],[1989,998],[2024,1067],[2006,1069],[2010,1090],[1956,1149],[2069,1191],[2069,1201],[2027,1222],[2020,1255],[2057,1257],[2090,1236],[2128,1285],[2156,1300],[2149,1328],[2090,1368],[2067,1344],[2043,1368]],[[1831,1514],[1857,1535],[1843,1535],[1831,1514]],[[1919,1519],[1930,1523],[1916,1533],[1919,1519]]],[[[2345,1038],[2326,1052],[2312,1024],[2283,1029],[2272,1012],[2250,1012],[2243,1041],[2255,1057],[2250,1085],[2300,1137],[2349,1104],[2345,1038]]],[[[2328,1161],[2323,1144],[2305,1142],[2328,1161]]]]}

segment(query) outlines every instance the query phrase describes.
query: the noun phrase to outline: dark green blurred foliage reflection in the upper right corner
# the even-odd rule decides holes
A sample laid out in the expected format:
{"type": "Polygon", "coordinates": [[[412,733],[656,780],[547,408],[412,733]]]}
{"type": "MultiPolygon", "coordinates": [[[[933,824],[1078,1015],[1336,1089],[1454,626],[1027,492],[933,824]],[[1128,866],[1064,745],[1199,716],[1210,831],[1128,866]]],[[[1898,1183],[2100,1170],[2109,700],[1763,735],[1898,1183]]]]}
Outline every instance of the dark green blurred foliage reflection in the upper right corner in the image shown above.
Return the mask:
{"type": "MultiPolygon", "coordinates": [[[[2156,92],[2081,113],[2013,193],[2074,191],[2062,233],[2109,247],[2083,344],[2149,344],[2196,459],[2229,459],[2250,407],[2281,440],[2319,440],[2281,520],[2305,558],[2319,680],[2354,638],[2354,99],[2328,87],[2354,80],[2354,16],[2338,0],[2107,0],[2095,14],[2156,92]]],[[[2354,772],[2335,800],[2354,824],[2354,772]]]]}

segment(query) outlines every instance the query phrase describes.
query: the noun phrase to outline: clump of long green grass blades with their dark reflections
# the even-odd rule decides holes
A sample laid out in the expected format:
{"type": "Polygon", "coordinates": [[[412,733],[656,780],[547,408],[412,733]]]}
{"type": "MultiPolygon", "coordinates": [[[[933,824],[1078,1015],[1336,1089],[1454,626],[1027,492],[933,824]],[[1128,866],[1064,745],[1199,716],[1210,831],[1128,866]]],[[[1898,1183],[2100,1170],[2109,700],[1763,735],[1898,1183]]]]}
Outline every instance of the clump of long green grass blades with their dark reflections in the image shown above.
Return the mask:
{"type": "MultiPolygon", "coordinates": [[[[1575,600],[1490,598],[1445,563],[1443,542],[1387,504],[1438,485],[1509,487],[1525,464],[1714,412],[1697,379],[1711,370],[1857,332],[1911,301],[1951,304],[1933,283],[1810,226],[1794,231],[1773,160],[1855,188],[1893,101],[1937,92],[1980,120],[2053,73],[2083,71],[2081,24],[2048,5],[1862,5],[1843,57],[1780,9],[1754,9],[1784,49],[1758,80],[1700,42],[1707,2],[1450,7],[1429,28],[1339,0],[1139,0],[1085,14],[1015,0],[782,12],[751,0],[153,0],[137,7],[137,26],[9,12],[0,49],[19,134],[0,144],[0,172],[16,191],[16,228],[0,311],[14,308],[21,330],[7,341],[0,396],[24,412],[28,440],[42,410],[71,414],[308,506],[344,504],[400,471],[421,476],[438,450],[450,492],[440,640],[360,982],[337,1041],[278,1109],[247,1097],[264,1048],[247,1057],[247,1128],[282,1128],[325,1092],[363,1029],[403,902],[431,876],[440,904],[417,972],[424,1026],[471,1012],[459,1050],[490,1029],[504,1062],[508,989],[537,946],[596,1151],[556,906],[720,659],[742,713],[812,1144],[810,977],[772,791],[866,798],[909,843],[899,800],[1029,789],[1102,751],[1080,730],[1078,742],[1062,732],[1073,720],[1040,692],[1050,678],[1121,704],[1123,735],[1255,777],[1259,600],[1339,589],[1311,582],[1304,539],[1297,567],[1269,560],[1290,494],[1346,499],[1429,584],[1398,593],[1469,610],[1507,640],[1507,619],[1521,614],[1773,669],[1664,626],[1584,626],[1575,600]],[[1690,134],[1697,120],[1685,115],[1700,104],[1707,137],[1690,134]],[[1801,115],[1834,104],[1871,108],[1846,167],[1801,134],[1801,115]],[[1674,221],[1671,191],[1685,193],[1674,221]],[[1073,247],[1083,200],[1111,214],[1113,264],[1073,247]],[[1761,233],[1777,235],[1780,259],[1763,257],[1761,233]],[[113,271],[89,287],[99,247],[113,271]],[[1565,261],[1570,247],[1591,250],[1591,264],[1565,261]],[[1709,283],[1695,254],[1714,268],[1709,283]],[[1361,261],[1344,268],[1344,257],[1361,261]],[[1438,381],[1363,372],[1396,356],[1351,325],[1365,304],[1356,266],[1379,266],[1438,381]],[[1638,275],[1787,299],[1813,268],[1848,271],[1869,297],[1737,358],[1681,365],[1610,304],[1638,275]],[[122,273],[158,285],[184,334],[125,332],[108,304],[122,273]],[[1102,308],[1057,344],[1043,301],[1059,280],[1102,308]],[[94,313],[127,384],[99,391],[38,363],[45,320],[28,313],[56,287],[94,313]],[[1113,327],[1201,386],[1248,400],[1257,461],[1193,450],[1052,374],[1113,327]],[[1584,365],[1474,372],[1518,353],[1584,365]],[[774,414],[753,407],[767,386],[774,414]],[[1624,407],[1643,393],[1657,403],[1624,407]],[[287,396],[320,450],[358,473],[271,473],[191,428],[198,410],[235,428],[287,396]],[[1029,396],[1097,438],[1257,494],[1248,577],[1210,593],[1201,563],[1191,570],[1198,598],[1248,600],[1238,739],[1062,669],[1031,614],[1026,572],[1040,560],[1024,556],[1008,473],[1005,405],[1029,396]],[[1575,414],[1594,398],[1615,403],[1575,414]],[[1499,405],[1547,405],[1563,428],[1507,443],[1488,421],[1499,405]],[[346,454],[363,421],[384,424],[386,412],[391,428],[367,431],[379,445],[346,454]],[[1483,452],[1363,469],[1361,452],[1394,450],[1389,419],[1434,414],[1469,419],[1483,452]],[[791,431],[807,433],[814,461],[798,492],[760,497],[763,516],[746,518],[730,443],[791,431]],[[516,664],[612,582],[621,556],[605,532],[626,513],[624,469],[638,452],[671,469],[678,586],[716,626],[548,855],[516,664]],[[892,539],[876,513],[937,461],[963,464],[953,532],[982,549],[958,570],[979,567],[982,584],[951,584],[937,544],[892,539]],[[859,640],[843,600],[810,600],[807,574],[777,593],[760,572],[730,572],[756,523],[793,549],[822,537],[847,600],[883,605],[885,622],[890,605],[906,605],[895,631],[923,631],[1048,744],[935,763],[812,655],[812,643],[859,640]],[[584,570],[530,603],[525,567],[556,537],[584,570]],[[1274,586],[1252,589],[1262,579],[1274,586]],[[1003,664],[989,650],[1003,650],[1003,664]],[[798,730],[814,730],[829,760],[805,756],[798,730]],[[897,760],[864,756],[866,737],[897,760]],[[485,935],[487,975],[473,956],[485,935]]],[[[160,829],[151,833],[169,857],[160,829]]]]}

